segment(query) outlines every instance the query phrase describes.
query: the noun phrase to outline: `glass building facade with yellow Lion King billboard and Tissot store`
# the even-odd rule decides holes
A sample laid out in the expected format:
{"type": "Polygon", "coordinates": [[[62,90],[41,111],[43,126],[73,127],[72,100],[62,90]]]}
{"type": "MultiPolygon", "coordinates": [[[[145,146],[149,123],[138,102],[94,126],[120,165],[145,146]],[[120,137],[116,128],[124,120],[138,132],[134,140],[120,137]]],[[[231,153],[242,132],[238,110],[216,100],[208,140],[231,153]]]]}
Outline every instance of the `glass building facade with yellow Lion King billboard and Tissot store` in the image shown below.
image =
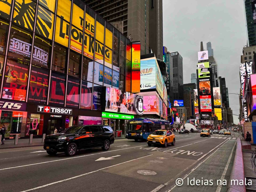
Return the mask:
{"type": "Polygon", "coordinates": [[[6,137],[50,134],[79,124],[80,115],[101,117],[104,86],[131,91],[131,42],[83,2],[0,5],[0,126],[6,137]],[[72,113],[48,114],[48,107],[72,113]]]}

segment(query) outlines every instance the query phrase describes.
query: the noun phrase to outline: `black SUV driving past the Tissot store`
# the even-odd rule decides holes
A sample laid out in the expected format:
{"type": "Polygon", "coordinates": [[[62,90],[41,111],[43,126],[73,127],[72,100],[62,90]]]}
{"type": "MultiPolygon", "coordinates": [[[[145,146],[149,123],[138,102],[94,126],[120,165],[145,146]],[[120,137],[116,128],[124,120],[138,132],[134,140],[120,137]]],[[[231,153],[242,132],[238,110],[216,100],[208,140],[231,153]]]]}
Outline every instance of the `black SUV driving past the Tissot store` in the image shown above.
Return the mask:
{"type": "Polygon", "coordinates": [[[82,149],[101,147],[102,150],[107,151],[114,140],[111,126],[78,125],[69,127],[61,133],[47,135],[44,149],[49,155],[65,152],[68,156],[74,156],[82,149]]]}

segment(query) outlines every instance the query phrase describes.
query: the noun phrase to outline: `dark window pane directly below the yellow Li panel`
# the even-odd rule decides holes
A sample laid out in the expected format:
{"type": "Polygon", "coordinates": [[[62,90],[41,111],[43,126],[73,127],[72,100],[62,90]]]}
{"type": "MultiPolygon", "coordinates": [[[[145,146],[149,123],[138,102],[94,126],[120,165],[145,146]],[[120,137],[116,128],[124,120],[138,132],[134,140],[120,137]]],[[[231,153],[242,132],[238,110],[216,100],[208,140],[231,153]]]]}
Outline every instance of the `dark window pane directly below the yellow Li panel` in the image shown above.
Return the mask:
{"type": "Polygon", "coordinates": [[[66,71],[66,53],[67,49],[57,44],[54,45],[52,55],[52,67],[54,71],[65,73],[66,71]]]}

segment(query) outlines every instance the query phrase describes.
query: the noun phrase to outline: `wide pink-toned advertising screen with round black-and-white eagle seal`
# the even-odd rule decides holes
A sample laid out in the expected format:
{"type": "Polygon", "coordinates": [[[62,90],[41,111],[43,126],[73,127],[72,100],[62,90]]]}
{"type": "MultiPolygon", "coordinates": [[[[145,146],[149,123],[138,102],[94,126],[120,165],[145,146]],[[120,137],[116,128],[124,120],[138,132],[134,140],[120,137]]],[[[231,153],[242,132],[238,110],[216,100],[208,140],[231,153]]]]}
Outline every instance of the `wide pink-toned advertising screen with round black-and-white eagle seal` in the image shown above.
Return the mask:
{"type": "Polygon", "coordinates": [[[143,97],[129,92],[106,87],[105,111],[143,114],[143,97]]]}

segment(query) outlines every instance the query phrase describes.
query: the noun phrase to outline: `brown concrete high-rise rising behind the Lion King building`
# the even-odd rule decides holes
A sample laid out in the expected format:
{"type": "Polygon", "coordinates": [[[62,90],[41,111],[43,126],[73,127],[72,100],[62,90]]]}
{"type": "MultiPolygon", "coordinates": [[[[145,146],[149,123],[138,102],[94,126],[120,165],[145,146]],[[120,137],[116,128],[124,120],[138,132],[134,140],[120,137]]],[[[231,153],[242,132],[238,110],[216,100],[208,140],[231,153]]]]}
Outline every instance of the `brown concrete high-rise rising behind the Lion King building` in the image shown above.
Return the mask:
{"type": "Polygon", "coordinates": [[[141,42],[141,55],[151,49],[162,59],[163,2],[159,1],[104,1],[83,0],[104,19],[118,28],[126,37],[141,42]]]}

